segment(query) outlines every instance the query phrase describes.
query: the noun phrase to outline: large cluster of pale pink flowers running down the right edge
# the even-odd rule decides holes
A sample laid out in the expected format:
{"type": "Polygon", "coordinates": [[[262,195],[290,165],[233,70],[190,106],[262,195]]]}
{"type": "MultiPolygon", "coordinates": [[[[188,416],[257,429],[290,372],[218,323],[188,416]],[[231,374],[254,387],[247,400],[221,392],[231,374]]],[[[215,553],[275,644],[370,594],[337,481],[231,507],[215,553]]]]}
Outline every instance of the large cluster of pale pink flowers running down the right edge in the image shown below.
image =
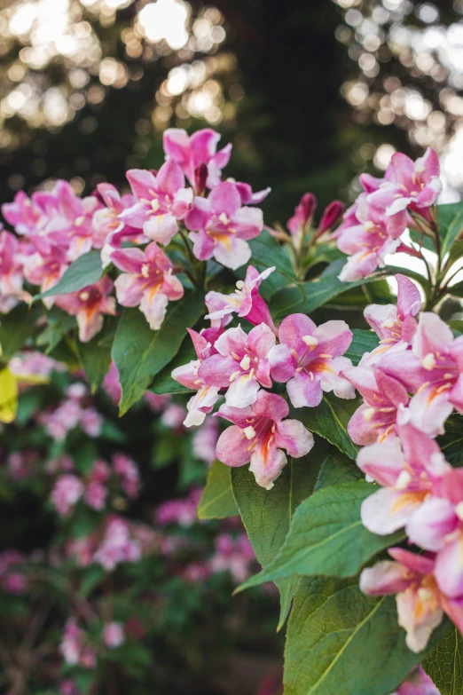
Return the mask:
{"type": "Polygon", "coordinates": [[[435,313],[417,320],[418,288],[403,275],[396,280],[396,306],[365,310],[379,347],[342,375],[364,399],[348,427],[363,446],[357,465],[381,486],[363,503],[362,521],[380,535],[404,528],[424,551],[389,549],[393,560],[365,569],[360,587],[396,594],[407,644],[420,652],[443,612],[463,629],[463,471],[445,461],[435,439],[454,409],[463,412],[463,336],[435,313]]]}

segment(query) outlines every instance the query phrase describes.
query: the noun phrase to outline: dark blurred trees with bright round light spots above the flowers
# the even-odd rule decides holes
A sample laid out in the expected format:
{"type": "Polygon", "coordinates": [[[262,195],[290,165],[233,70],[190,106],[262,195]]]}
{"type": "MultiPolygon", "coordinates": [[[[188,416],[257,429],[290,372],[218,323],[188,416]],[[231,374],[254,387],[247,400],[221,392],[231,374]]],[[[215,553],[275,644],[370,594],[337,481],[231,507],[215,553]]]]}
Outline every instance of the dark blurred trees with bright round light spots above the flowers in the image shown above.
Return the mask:
{"type": "Polygon", "coordinates": [[[232,141],[231,175],[349,201],[360,170],[435,146],[463,189],[461,0],[1,0],[2,201],[150,168],[168,127],[232,141]]]}

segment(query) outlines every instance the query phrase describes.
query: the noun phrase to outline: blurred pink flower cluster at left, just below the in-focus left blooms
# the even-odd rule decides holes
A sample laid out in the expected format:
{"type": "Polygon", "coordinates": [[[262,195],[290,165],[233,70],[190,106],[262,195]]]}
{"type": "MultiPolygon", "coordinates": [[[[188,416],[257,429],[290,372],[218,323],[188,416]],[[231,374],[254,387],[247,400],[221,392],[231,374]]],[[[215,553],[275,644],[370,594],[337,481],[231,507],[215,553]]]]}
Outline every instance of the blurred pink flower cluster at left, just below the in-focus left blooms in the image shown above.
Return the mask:
{"type": "Polygon", "coordinates": [[[37,423],[43,425],[47,434],[57,441],[65,439],[67,432],[75,427],[81,427],[89,437],[98,437],[103,418],[88,403],[89,391],[85,384],[71,384],[66,395],[67,399],[58,407],[39,413],[36,417],[37,423]]]}

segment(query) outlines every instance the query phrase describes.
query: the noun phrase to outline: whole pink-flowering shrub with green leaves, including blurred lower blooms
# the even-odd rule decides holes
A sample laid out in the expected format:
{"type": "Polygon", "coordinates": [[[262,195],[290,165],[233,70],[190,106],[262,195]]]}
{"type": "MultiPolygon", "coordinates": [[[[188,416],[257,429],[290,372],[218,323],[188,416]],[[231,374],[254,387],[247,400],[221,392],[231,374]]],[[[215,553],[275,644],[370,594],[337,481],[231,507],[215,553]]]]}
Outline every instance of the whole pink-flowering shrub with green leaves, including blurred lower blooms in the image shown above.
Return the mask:
{"type": "MultiPolygon", "coordinates": [[[[463,336],[452,319],[463,205],[437,204],[428,149],[417,162],[395,154],[383,179],[363,175],[344,214],[334,201],[315,225],[307,193],[287,230],[271,227],[255,207],[268,190],[223,180],[231,148],[217,152],[218,139],[166,131],[166,162],[129,171],[131,193],[102,184],[81,200],[60,181],[4,206],[14,230],[2,233],[4,422],[30,382],[21,348],[80,375],[61,402],[27,411],[52,440],[51,507],[64,525],[85,519],[57,563],[112,575],[147,567],[153,548],[179,549],[121,514],[144,480],[126,454],[99,450],[119,428],[108,430],[86,379],[120,415],[151,409],[158,468],[192,450],[204,463],[185,472],[191,484],[212,463],[202,494],[161,505],[156,523],[189,527],[198,497],[200,518],[239,512],[262,572],[247,579],[247,541],[225,529],[214,557],[198,549],[182,575],[276,583],[279,628],[290,613],[287,695],[460,691],[463,336]],[[394,251],[423,273],[388,265],[394,251]]],[[[26,448],[8,459],[18,481],[37,466],[26,448]]],[[[97,668],[98,650],[123,648],[129,619],[107,615],[98,635],[83,613],[69,616],[68,665],[97,668]]]]}

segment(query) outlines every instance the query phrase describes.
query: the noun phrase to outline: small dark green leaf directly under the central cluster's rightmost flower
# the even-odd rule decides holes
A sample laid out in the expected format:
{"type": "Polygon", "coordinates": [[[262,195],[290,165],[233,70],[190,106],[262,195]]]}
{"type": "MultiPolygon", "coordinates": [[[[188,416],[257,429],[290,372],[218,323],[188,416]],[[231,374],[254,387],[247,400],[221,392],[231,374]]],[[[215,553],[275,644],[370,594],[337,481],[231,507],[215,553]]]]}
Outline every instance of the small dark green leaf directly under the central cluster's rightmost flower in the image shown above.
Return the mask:
{"type": "MultiPolygon", "coordinates": [[[[350,418],[359,407],[359,399],[338,399],[326,393],[318,407],[298,408],[297,419],[311,432],[317,432],[337,446],[349,458],[357,457],[357,446],[352,443],[347,426],[350,418]]],[[[294,415],[295,416],[295,415],[294,415]]]]}

